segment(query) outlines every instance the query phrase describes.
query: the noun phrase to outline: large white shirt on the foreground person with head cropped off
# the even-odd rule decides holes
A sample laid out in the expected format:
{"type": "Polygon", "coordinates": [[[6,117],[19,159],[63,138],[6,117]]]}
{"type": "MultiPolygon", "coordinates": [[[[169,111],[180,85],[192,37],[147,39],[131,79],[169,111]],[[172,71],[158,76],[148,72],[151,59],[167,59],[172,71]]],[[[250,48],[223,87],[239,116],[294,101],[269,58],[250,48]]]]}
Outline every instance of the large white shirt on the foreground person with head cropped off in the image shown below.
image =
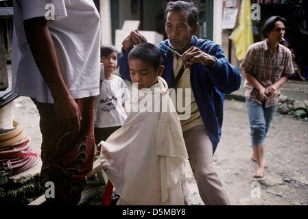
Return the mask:
{"type": "Polygon", "coordinates": [[[60,71],[74,99],[99,94],[99,14],[90,0],[14,0],[12,90],[36,101],[54,103],[27,44],[23,21],[50,15],[47,25],[56,49],[60,71]]]}

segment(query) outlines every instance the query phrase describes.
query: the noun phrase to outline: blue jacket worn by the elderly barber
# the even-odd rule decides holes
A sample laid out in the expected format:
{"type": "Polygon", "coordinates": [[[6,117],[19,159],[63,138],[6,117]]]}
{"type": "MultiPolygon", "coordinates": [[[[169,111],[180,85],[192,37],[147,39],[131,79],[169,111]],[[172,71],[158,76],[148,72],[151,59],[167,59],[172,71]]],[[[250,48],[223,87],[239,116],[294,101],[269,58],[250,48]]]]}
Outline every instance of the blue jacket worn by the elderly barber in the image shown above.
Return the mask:
{"type": "MultiPolygon", "coordinates": [[[[171,47],[169,40],[161,42],[171,47]]],[[[165,50],[163,45],[158,44],[165,50]]],[[[196,63],[190,67],[191,89],[195,96],[206,131],[209,133],[213,145],[213,153],[220,142],[222,134],[222,120],[224,111],[224,93],[230,94],[241,86],[241,74],[239,69],[228,62],[222,47],[210,40],[202,40],[193,36],[191,46],[195,45],[200,50],[216,57],[216,64],[213,68],[196,63]]],[[[174,78],[174,54],[161,51],[164,60],[165,70],[162,77],[167,81],[169,88],[172,87],[174,78]]],[[[128,54],[121,53],[119,56],[119,73],[130,80],[128,68],[128,54]]]]}

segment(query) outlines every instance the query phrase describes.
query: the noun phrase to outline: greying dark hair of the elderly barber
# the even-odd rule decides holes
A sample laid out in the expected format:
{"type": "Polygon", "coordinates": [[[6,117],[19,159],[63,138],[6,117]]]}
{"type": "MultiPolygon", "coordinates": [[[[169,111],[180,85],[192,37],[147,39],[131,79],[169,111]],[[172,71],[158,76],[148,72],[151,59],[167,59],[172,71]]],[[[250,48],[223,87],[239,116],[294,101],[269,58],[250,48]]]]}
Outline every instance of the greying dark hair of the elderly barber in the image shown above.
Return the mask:
{"type": "Polygon", "coordinates": [[[169,1],[165,10],[165,23],[167,22],[167,14],[173,11],[186,11],[189,14],[188,23],[193,28],[199,20],[199,8],[198,5],[187,1],[169,1]]]}

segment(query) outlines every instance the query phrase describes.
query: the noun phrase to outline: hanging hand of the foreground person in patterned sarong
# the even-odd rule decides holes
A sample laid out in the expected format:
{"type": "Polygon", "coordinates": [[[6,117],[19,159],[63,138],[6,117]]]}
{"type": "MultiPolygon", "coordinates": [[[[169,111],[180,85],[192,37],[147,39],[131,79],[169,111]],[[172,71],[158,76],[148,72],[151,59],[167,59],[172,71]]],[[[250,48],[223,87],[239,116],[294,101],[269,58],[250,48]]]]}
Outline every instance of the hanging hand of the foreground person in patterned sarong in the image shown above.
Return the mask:
{"type": "Polygon", "coordinates": [[[68,131],[80,131],[82,116],[77,103],[70,94],[67,98],[54,99],[54,111],[58,125],[68,131]]]}

